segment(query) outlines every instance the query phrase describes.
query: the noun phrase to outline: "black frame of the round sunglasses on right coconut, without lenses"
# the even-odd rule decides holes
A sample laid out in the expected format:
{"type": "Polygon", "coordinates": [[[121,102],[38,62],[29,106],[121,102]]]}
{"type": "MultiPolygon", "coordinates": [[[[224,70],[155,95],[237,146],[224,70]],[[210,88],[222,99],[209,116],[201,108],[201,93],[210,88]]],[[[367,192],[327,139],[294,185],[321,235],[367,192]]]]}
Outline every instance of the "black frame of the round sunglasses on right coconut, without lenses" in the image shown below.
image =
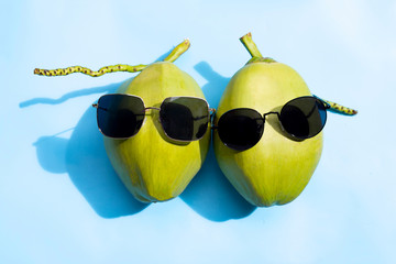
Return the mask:
{"type": "MultiPolygon", "coordinates": [[[[219,117],[219,119],[217,120],[217,124],[219,123],[221,117],[223,117],[223,116],[224,116],[226,113],[228,113],[228,112],[231,112],[231,111],[234,111],[234,110],[251,110],[251,111],[256,112],[256,113],[257,113],[257,117],[260,116],[261,119],[263,120],[263,131],[261,132],[260,140],[262,139],[263,133],[264,133],[265,119],[266,119],[266,117],[270,116],[270,114],[276,114],[276,116],[277,116],[277,118],[278,118],[278,120],[279,120],[279,124],[280,124],[282,130],[283,130],[285,133],[287,133],[289,136],[292,136],[293,139],[296,139],[296,140],[307,140],[307,139],[310,139],[310,138],[316,136],[317,134],[319,134],[319,133],[323,130],[323,128],[324,128],[324,125],[326,125],[326,122],[327,122],[327,110],[330,109],[330,108],[331,108],[330,103],[323,101],[322,99],[320,99],[320,98],[318,98],[318,97],[316,97],[316,96],[314,96],[314,95],[312,95],[312,96],[301,96],[301,97],[297,97],[297,98],[294,98],[294,99],[287,101],[287,102],[280,108],[280,111],[279,111],[279,112],[270,111],[270,112],[266,112],[266,113],[260,113],[257,110],[252,109],[252,108],[234,108],[234,109],[228,110],[228,111],[226,111],[224,113],[222,113],[222,114],[219,117]],[[283,111],[283,109],[284,109],[285,106],[287,106],[288,103],[290,103],[290,102],[293,102],[293,101],[295,101],[295,100],[304,99],[304,98],[314,98],[314,99],[316,99],[317,102],[322,103],[323,109],[324,109],[324,113],[326,113],[324,122],[323,122],[322,128],[321,128],[315,135],[311,135],[311,136],[297,136],[297,135],[295,135],[295,134],[293,134],[293,133],[287,132],[287,130],[284,128],[284,124],[282,123],[282,119],[280,119],[280,114],[282,114],[282,111],[283,111]]],[[[213,130],[216,130],[216,129],[218,130],[219,127],[218,127],[218,125],[213,125],[212,129],[213,129],[213,130]]],[[[221,140],[221,136],[220,136],[220,135],[219,135],[219,138],[220,138],[220,140],[221,140]]],[[[258,140],[254,145],[256,145],[256,144],[260,142],[260,140],[258,140]]],[[[228,147],[230,147],[230,148],[232,148],[232,150],[237,150],[237,148],[234,148],[234,147],[229,146],[229,145],[228,145],[227,143],[224,143],[222,140],[221,140],[221,142],[222,142],[226,146],[228,146],[228,147]]],[[[254,145],[252,145],[252,146],[249,147],[249,148],[252,148],[254,145]]],[[[245,148],[245,150],[242,150],[242,151],[246,151],[246,150],[249,150],[249,148],[245,148]]],[[[237,150],[237,151],[241,151],[241,150],[237,150]]]]}

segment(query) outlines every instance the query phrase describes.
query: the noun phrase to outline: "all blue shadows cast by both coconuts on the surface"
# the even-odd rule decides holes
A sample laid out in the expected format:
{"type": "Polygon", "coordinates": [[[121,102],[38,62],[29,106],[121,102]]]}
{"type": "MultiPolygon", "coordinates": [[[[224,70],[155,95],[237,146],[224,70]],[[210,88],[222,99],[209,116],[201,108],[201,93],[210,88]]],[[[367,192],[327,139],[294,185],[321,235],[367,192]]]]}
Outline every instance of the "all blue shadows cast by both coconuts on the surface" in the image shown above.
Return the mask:
{"type": "MultiPolygon", "coordinates": [[[[229,78],[215,73],[205,62],[196,65],[195,69],[208,80],[202,89],[209,103],[213,106],[219,101],[229,78]]],[[[59,99],[35,98],[21,102],[20,107],[57,105],[79,96],[114,92],[120,85],[82,89],[59,99]]],[[[134,199],[113,170],[106,154],[102,135],[97,129],[94,108],[84,113],[69,140],[58,135],[42,136],[34,146],[41,166],[51,173],[68,173],[74,185],[99,216],[131,216],[148,206],[134,199]]],[[[180,198],[197,213],[211,221],[241,219],[255,210],[223,176],[212,147],[202,168],[180,198]]]]}

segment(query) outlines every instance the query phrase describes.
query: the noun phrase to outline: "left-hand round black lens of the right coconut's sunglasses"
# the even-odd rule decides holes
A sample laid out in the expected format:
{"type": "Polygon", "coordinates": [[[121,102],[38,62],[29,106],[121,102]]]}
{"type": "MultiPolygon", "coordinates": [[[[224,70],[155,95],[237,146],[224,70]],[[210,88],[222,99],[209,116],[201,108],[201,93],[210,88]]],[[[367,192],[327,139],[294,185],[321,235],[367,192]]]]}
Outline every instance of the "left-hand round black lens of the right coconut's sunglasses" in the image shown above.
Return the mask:
{"type": "Polygon", "coordinates": [[[229,147],[245,151],[254,146],[264,130],[262,116],[253,109],[233,109],[222,114],[218,122],[220,140],[229,147]]]}

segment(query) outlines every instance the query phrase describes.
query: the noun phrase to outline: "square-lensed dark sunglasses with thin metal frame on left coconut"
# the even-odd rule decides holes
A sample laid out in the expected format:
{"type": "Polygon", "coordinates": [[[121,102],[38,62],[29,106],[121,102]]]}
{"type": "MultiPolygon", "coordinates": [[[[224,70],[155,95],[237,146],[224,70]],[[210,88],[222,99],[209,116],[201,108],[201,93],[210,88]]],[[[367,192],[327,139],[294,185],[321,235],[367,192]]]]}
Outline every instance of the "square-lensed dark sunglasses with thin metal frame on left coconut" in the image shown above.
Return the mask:
{"type": "Polygon", "coordinates": [[[100,132],[113,139],[128,139],[141,129],[148,109],[160,111],[160,122],[166,136],[176,141],[200,140],[210,122],[208,102],[196,97],[168,97],[160,108],[145,107],[142,98],[125,94],[111,94],[99,98],[97,121],[100,132]]]}

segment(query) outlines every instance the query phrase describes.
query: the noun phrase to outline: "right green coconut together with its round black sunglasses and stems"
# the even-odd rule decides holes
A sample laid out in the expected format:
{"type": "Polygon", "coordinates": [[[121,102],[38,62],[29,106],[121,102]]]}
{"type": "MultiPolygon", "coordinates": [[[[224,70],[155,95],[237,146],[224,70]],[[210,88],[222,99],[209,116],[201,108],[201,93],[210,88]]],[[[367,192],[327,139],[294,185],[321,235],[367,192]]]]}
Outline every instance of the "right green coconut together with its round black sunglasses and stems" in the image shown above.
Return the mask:
{"type": "Polygon", "coordinates": [[[220,99],[216,157],[252,205],[285,205],[298,197],[318,165],[327,111],[356,111],[312,96],[293,68],[263,57],[250,33],[241,41],[252,58],[220,99]]]}

